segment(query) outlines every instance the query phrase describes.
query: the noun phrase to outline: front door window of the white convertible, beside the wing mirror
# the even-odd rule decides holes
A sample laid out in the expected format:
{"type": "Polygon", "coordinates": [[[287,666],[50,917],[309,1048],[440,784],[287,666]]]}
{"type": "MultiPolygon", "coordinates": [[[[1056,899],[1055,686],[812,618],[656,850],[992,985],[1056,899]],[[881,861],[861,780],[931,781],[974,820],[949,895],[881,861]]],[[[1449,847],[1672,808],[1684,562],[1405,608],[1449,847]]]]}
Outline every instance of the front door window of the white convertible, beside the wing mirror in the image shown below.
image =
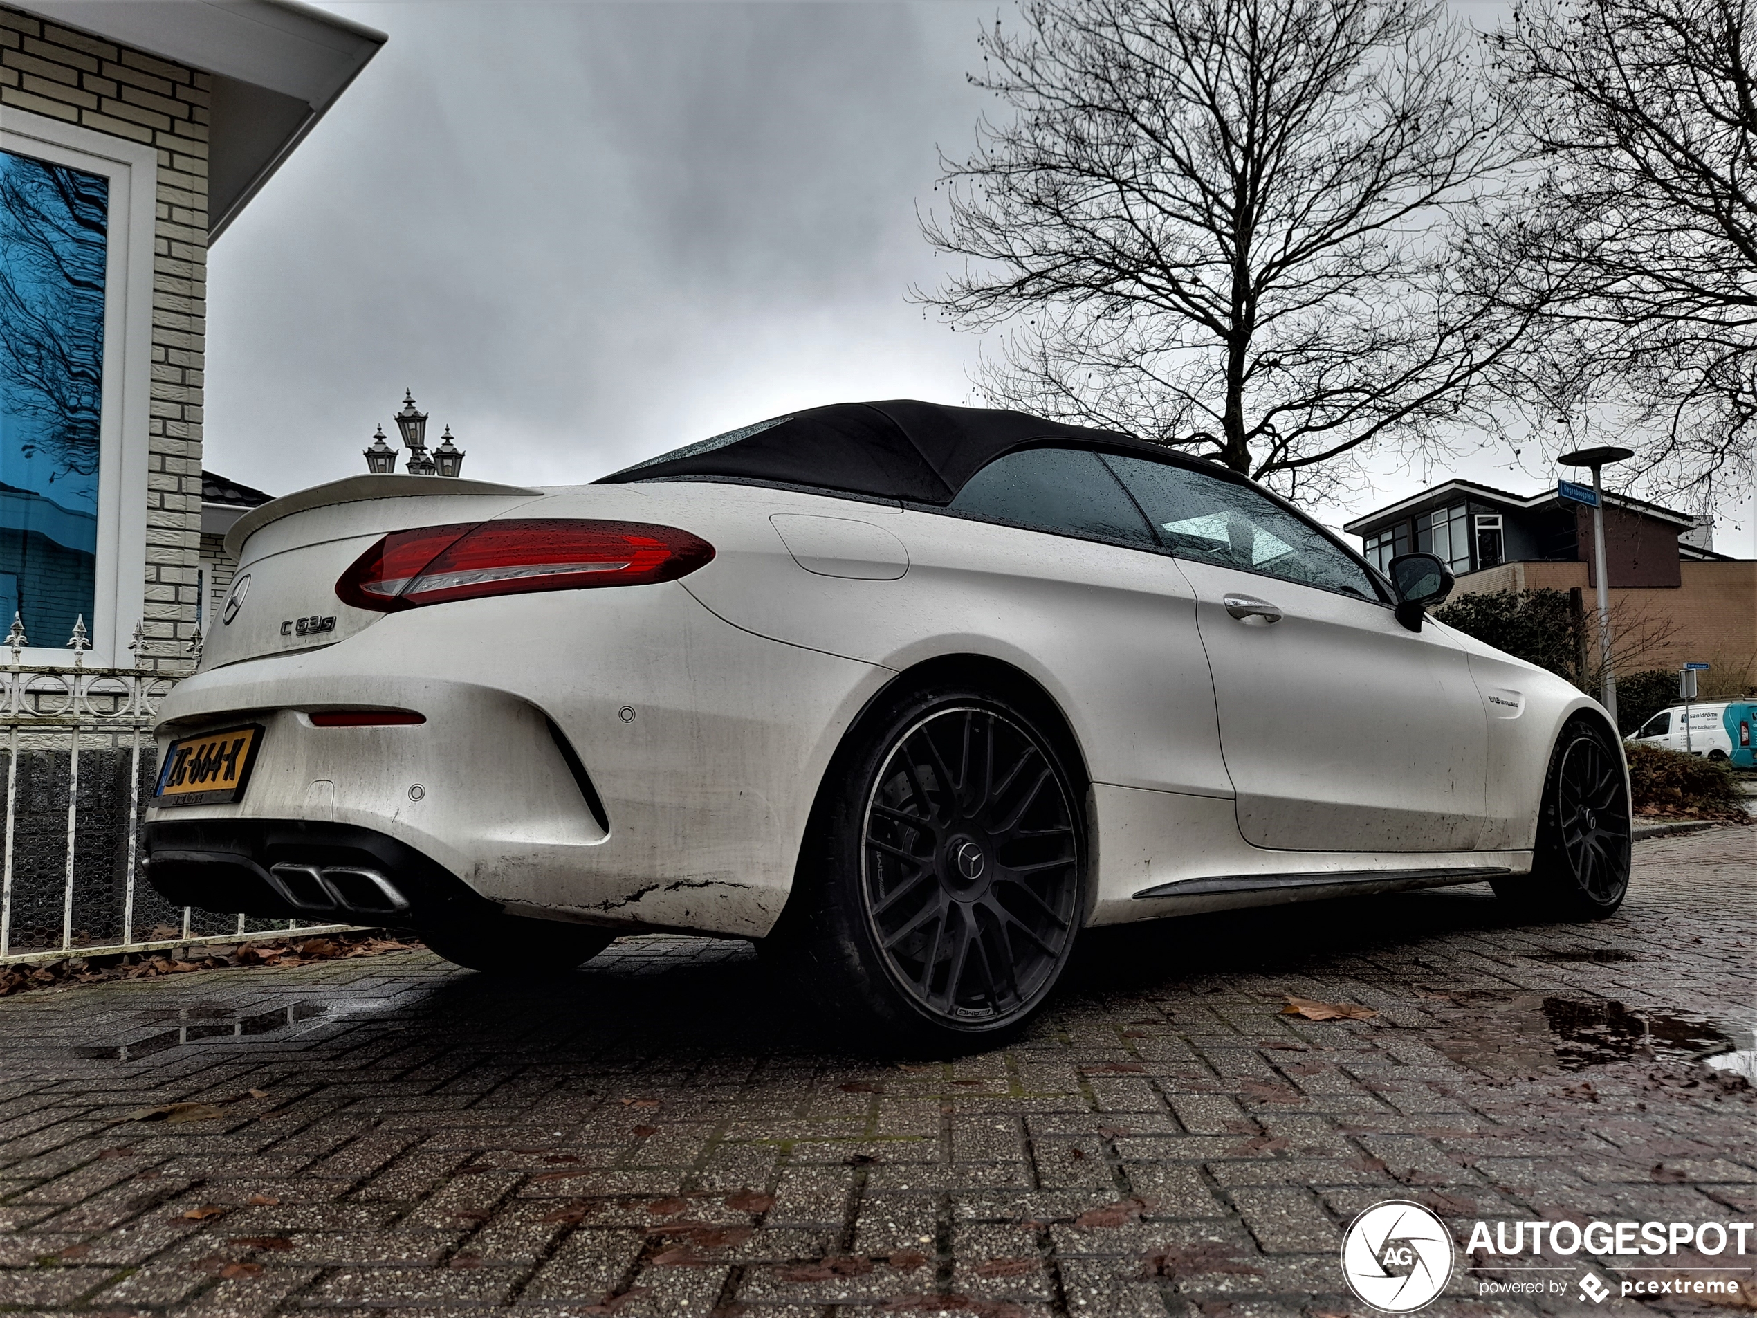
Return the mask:
{"type": "Polygon", "coordinates": [[[1256,490],[1168,462],[1117,453],[1103,460],[1177,557],[1379,599],[1365,568],[1256,490]]]}

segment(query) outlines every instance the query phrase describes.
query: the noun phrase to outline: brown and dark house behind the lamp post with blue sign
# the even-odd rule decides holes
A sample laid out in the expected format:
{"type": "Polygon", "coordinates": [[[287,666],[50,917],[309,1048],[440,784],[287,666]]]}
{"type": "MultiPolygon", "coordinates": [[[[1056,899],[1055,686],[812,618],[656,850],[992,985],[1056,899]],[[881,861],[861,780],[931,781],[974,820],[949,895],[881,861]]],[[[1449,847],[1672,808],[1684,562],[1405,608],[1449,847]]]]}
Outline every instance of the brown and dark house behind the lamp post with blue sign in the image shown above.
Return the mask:
{"type": "MultiPolygon", "coordinates": [[[[1522,496],[1450,480],[1346,527],[1379,566],[1437,554],[1472,590],[1597,590],[1592,510],[1555,490],[1522,496]]],[[[1713,548],[1713,525],[1620,494],[1604,496],[1604,559],[1615,633],[1646,636],[1636,668],[1713,664],[1720,684],[1757,687],[1757,561],[1713,548]]]]}

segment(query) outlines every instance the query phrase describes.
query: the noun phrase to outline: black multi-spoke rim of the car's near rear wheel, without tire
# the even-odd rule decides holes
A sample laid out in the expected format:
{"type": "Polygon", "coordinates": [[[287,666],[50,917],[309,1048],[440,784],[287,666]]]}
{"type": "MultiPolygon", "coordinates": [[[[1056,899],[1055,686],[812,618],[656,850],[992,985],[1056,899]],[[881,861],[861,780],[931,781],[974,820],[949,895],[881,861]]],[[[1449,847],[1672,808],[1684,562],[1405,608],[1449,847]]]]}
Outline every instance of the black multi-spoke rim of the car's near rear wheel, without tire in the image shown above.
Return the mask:
{"type": "Polygon", "coordinates": [[[938,1021],[1000,1021],[1042,998],[1074,945],[1079,868],[1051,752],[1003,713],[933,712],[873,780],[864,912],[886,970],[938,1021]]]}

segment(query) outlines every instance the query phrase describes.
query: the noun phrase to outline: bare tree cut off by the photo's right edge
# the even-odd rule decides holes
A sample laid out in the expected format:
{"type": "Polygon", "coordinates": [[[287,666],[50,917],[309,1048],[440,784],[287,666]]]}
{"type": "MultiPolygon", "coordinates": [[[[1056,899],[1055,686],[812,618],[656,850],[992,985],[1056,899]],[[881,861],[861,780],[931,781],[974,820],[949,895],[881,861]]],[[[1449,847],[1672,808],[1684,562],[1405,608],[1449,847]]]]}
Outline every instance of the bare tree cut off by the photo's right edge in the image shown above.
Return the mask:
{"type": "Polygon", "coordinates": [[[1752,476],[1753,35],[1745,0],[1536,0],[1495,37],[1541,165],[1499,246],[1546,330],[1515,392],[1564,441],[1632,436],[1657,492],[1752,476]]]}

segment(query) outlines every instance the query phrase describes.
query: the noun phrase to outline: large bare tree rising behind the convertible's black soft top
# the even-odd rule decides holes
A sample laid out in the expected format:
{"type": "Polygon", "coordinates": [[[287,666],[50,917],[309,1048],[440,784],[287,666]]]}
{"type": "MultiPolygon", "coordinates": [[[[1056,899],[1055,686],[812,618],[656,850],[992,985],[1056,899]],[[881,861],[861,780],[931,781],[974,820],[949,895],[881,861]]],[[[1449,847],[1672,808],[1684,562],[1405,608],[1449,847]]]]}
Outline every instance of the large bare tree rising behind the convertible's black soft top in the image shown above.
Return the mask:
{"type": "Polygon", "coordinates": [[[1290,489],[1435,452],[1532,311],[1458,257],[1511,156],[1425,0],[1026,0],[982,35],[1014,116],[942,156],[963,269],[915,297],[1007,327],[989,399],[1290,489]],[[1339,462],[1339,459],[1344,459],[1339,462]]]}

